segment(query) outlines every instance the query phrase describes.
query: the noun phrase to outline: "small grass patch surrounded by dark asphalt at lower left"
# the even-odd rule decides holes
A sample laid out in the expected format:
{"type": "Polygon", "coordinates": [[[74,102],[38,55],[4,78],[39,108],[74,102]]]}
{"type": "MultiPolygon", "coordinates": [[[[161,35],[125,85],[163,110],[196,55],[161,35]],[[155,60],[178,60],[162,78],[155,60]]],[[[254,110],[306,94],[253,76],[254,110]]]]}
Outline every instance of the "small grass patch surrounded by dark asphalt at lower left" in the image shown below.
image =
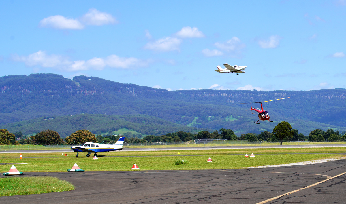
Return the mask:
{"type": "Polygon", "coordinates": [[[28,195],[74,190],[74,186],[52,176],[20,176],[0,178],[0,196],[28,195]]]}

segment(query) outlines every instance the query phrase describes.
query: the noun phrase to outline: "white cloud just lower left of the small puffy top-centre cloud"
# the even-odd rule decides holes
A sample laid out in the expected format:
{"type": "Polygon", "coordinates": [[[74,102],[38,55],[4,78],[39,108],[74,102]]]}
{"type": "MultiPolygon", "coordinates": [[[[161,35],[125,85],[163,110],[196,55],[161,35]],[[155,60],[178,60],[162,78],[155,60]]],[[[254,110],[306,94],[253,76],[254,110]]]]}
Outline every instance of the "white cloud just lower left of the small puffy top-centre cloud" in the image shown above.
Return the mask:
{"type": "Polygon", "coordinates": [[[179,51],[180,43],[182,42],[181,39],[178,38],[172,38],[172,37],[166,37],[156,40],[155,42],[148,42],[144,49],[148,50],[156,50],[156,51],[173,51],[177,50],[179,51]]]}

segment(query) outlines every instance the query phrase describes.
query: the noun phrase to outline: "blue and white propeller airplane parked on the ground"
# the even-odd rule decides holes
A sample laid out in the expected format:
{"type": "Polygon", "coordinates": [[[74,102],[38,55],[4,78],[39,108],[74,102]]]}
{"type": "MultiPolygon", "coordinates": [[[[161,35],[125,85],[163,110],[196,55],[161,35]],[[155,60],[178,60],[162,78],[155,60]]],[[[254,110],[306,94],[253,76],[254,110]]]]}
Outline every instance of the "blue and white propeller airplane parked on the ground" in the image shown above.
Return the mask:
{"type": "Polygon", "coordinates": [[[90,157],[91,153],[94,153],[94,156],[97,156],[99,152],[111,152],[111,151],[120,151],[122,149],[122,144],[124,144],[125,137],[120,137],[118,141],[114,145],[86,142],[80,146],[73,146],[71,149],[73,152],[77,152],[76,157],[78,157],[78,153],[86,152],[86,157],[90,157]]]}

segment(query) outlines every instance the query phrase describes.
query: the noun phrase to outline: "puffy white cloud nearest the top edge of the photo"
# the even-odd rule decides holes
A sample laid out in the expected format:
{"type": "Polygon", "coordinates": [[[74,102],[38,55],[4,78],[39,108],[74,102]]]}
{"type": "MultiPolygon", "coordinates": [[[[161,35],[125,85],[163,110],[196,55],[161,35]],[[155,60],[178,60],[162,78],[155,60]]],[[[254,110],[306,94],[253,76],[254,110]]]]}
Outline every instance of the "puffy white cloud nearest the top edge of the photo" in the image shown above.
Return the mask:
{"type": "Polygon", "coordinates": [[[117,20],[109,13],[98,11],[97,9],[89,9],[81,18],[86,25],[102,26],[106,24],[117,23],[117,20]]]}

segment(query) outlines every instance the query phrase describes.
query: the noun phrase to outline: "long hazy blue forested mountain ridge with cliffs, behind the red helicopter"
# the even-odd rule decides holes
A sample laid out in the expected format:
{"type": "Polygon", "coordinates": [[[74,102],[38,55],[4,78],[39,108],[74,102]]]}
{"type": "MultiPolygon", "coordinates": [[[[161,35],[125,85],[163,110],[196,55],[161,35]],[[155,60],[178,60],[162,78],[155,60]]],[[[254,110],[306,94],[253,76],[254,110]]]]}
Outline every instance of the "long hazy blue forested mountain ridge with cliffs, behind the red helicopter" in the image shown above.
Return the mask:
{"type": "MultiPolygon", "coordinates": [[[[199,129],[233,129],[237,135],[271,131],[283,120],[304,134],[316,128],[346,130],[346,89],[167,91],[97,77],[76,76],[71,80],[56,74],[4,76],[0,77],[0,86],[2,127],[16,126],[9,124],[13,122],[29,123],[24,120],[40,117],[145,114],[183,126],[196,128],[198,124],[199,129]],[[263,103],[274,123],[254,124],[257,115],[245,111],[248,104],[232,105],[282,97],[291,98],[263,103]]],[[[20,123],[16,124],[19,127],[20,123]]]]}

